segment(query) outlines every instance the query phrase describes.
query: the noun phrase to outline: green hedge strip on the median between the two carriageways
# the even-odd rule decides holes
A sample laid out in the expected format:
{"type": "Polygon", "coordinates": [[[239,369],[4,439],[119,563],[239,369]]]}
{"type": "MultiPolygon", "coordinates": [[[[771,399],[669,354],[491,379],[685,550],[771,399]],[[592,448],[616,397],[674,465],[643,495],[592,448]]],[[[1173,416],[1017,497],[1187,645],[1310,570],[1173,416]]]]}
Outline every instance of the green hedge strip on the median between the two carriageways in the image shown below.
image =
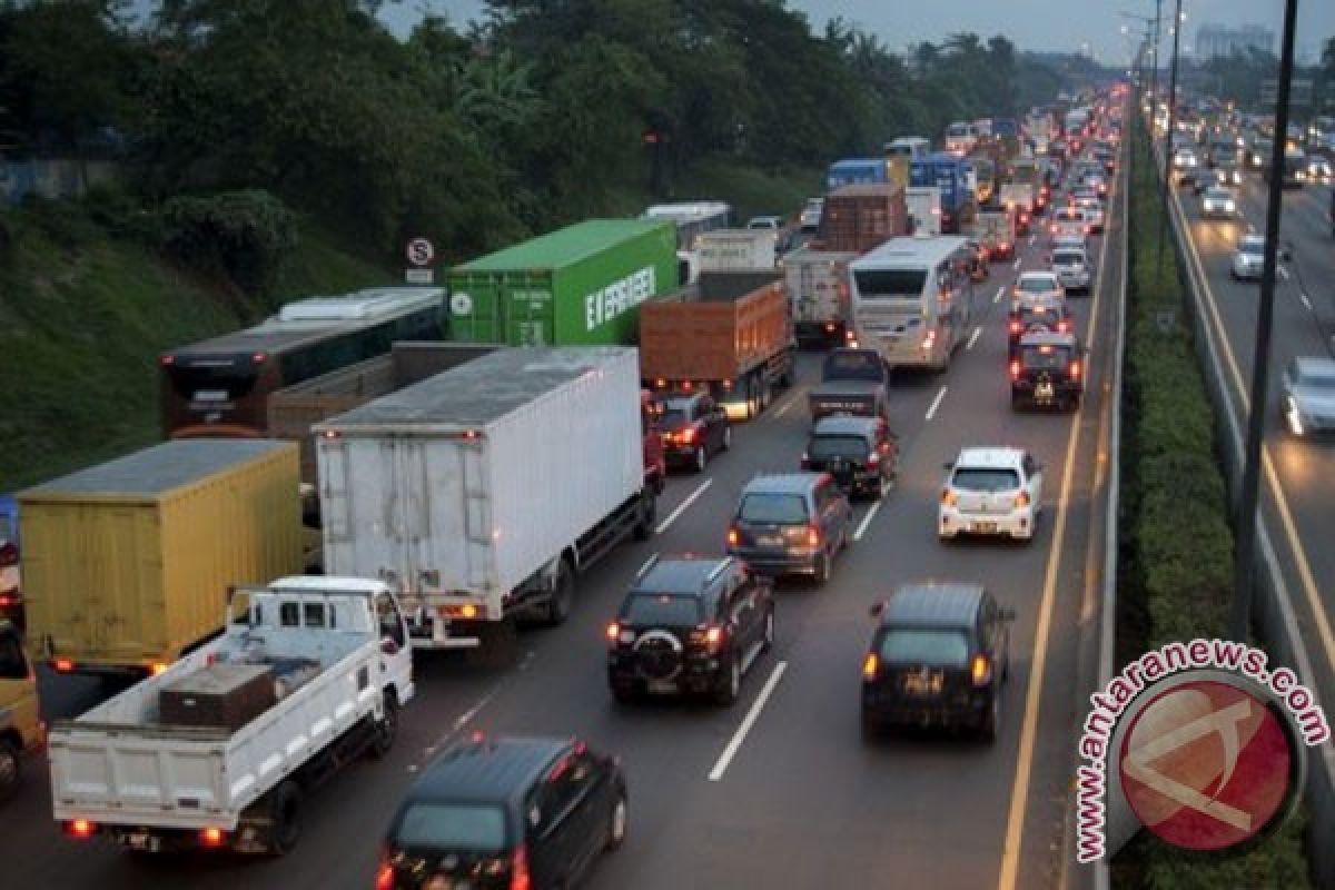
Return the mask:
{"type": "MultiPolygon", "coordinates": [[[[1117,663],[1197,636],[1227,638],[1234,536],[1215,418],[1192,342],[1187,278],[1163,230],[1147,133],[1133,127],[1121,447],[1117,663]]],[[[1304,819],[1254,851],[1191,855],[1141,831],[1113,861],[1125,890],[1311,886],[1304,819]]]]}

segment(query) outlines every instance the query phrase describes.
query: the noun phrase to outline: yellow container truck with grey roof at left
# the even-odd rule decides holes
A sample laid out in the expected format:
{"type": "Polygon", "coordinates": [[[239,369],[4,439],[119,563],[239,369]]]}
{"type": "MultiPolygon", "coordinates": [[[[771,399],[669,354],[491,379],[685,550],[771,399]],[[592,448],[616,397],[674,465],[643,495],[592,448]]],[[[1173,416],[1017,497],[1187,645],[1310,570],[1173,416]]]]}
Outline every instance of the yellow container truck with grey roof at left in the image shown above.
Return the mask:
{"type": "Polygon", "coordinates": [[[234,584],[302,570],[296,444],[178,439],[19,492],[27,644],[143,675],[222,630],[234,584]]]}

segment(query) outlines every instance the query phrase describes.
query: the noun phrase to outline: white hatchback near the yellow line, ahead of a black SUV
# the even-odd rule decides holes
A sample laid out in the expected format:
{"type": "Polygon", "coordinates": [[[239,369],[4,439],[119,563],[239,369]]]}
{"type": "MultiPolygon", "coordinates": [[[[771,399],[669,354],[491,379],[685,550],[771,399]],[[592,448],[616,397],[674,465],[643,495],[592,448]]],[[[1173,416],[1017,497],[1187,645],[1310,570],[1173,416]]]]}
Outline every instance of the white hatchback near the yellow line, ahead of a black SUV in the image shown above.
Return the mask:
{"type": "Polygon", "coordinates": [[[1020,448],[964,448],[947,464],[937,536],[1032,540],[1043,504],[1043,464],[1020,448]]]}

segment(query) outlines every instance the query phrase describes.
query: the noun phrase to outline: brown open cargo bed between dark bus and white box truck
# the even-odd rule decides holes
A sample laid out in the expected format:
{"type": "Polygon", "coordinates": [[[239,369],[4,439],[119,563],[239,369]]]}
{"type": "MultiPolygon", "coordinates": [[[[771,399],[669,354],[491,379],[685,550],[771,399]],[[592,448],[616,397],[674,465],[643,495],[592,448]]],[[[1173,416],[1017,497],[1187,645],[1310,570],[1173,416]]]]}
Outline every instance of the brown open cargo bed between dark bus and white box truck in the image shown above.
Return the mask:
{"type": "Polygon", "coordinates": [[[279,390],[268,398],[268,428],[302,450],[302,482],[315,484],[315,440],[311,427],[382,395],[502,348],[483,343],[395,343],[388,355],[359,362],[279,390]]]}

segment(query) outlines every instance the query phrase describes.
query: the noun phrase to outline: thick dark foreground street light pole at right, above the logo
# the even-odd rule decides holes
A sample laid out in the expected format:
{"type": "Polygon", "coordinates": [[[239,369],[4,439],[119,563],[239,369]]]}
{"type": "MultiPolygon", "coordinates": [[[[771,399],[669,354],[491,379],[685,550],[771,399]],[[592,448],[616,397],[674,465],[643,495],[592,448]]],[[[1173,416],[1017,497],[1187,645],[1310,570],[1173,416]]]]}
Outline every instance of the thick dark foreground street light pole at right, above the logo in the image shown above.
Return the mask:
{"type": "Polygon", "coordinates": [[[1266,262],[1262,266],[1260,307],[1256,312],[1256,356],[1252,360],[1251,411],[1247,415],[1247,447],[1243,459],[1243,490],[1238,503],[1238,554],[1232,639],[1244,642],[1251,627],[1256,590],[1256,502],[1260,494],[1262,434],[1266,428],[1266,386],[1270,371],[1270,335],[1275,316],[1275,270],[1279,252],[1279,211],[1283,191],[1284,144],[1288,140],[1288,88],[1294,79],[1294,23],[1298,0],[1284,0],[1284,43],[1279,59],[1279,89],[1275,107],[1275,140],[1270,157],[1270,193],[1266,203],[1266,262]]]}

